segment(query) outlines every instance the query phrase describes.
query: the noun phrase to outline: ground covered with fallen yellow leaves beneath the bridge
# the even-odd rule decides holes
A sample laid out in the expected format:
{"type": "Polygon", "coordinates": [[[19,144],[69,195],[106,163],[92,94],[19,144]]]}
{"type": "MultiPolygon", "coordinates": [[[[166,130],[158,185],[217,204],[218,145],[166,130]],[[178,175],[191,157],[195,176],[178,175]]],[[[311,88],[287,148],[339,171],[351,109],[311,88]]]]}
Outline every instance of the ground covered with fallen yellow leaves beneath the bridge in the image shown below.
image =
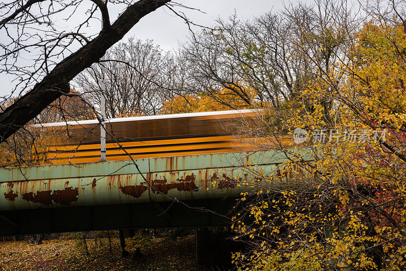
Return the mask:
{"type": "Polygon", "coordinates": [[[122,258],[117,238],[112,239],[112,253],[107,239],[101,245],[87,240],[87,245],[89,256],[76,240],[50,240],[38,246],[26,241],[0,242],[0,270],[210,270],[196,264],[192,235],[152,239],[142,257],[122,258]]]}

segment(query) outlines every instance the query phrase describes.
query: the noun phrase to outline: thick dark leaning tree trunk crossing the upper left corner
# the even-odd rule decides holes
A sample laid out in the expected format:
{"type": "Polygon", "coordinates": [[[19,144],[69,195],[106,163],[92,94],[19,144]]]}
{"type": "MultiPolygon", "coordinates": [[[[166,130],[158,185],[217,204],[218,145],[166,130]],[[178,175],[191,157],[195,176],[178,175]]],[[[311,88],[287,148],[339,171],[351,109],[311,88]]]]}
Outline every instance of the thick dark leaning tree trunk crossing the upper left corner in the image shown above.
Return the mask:
{"type": "Polygon", "coordinates": [[[96,38],[59,62],[32,90],[0,113],[0,143],[35,118],[55,99],[69,93],[69,82],[75,76],[97,62],[141,18],[170,1],[140,0],[130,5],[111,26],[104,25],[96,38]]]}

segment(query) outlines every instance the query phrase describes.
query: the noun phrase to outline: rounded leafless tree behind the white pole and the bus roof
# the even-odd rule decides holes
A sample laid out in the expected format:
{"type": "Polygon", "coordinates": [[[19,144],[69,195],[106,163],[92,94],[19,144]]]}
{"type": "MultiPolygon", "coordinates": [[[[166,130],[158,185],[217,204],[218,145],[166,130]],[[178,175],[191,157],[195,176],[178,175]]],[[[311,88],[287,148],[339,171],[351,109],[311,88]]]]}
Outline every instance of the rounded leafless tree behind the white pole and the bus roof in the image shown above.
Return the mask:
{"type": "MultiPolygon", "coordinates": [[[[155,115],[172,88],[171,54],[152,41],[128,40],[106,53],[106,110],[108,117],[155,115]]],[[[100,104],[100,65],[93,64],[76,79],[78,89],[92,105],[100,104]]],[[[95,106],[97,107],[97,106],[95,106]]]]}

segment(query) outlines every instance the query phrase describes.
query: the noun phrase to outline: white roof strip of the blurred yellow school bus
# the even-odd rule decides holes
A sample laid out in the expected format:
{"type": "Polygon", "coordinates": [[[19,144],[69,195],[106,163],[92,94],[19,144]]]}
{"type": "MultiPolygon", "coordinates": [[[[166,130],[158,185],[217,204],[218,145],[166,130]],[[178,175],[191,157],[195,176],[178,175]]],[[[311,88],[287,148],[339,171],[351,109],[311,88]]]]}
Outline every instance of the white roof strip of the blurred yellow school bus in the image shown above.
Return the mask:
{"type": "MultiPolygon", "coordinates": [[[[261,111],[260,109],[244,109],[244,110],[227,110],[227,111],[212,111],[212,112],[195,112],[195,113],[182,113],[182,114],[168,114],[168,115],[154,115],[142,117],[128,117],[128,118],[114,118],[107,119],[106,122],[123,122],[123,121],[138,121],[138,120],[154,120],[154,119],[173,119],[173,118],[187,118],[187,117],[200,117],[200,116],[216,116],[216,115],[236,115],[244,113],[254,113],[261,111]]],[[[51,127],[51,126],[65,126],[65,125],[84,125],[84,124],[97,124],[97,119],[79,120],[79,121],[66,121],[66,122],[50,122],[31,124],[29,127],[51,127]]]]}

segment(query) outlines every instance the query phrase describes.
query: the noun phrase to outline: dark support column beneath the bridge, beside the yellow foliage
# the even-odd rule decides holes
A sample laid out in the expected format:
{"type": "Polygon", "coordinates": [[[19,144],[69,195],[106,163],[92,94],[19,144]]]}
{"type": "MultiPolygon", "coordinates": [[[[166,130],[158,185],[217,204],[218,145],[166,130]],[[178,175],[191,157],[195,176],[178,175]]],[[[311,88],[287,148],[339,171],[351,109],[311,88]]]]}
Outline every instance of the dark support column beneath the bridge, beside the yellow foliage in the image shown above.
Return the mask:
{"type": "Polygon", "coordinates": [[[231,267],[231,253],[241,250],[232,240],[229,228],[198,228],[196,234],[196,260],[199,265],[231,267]]]}

